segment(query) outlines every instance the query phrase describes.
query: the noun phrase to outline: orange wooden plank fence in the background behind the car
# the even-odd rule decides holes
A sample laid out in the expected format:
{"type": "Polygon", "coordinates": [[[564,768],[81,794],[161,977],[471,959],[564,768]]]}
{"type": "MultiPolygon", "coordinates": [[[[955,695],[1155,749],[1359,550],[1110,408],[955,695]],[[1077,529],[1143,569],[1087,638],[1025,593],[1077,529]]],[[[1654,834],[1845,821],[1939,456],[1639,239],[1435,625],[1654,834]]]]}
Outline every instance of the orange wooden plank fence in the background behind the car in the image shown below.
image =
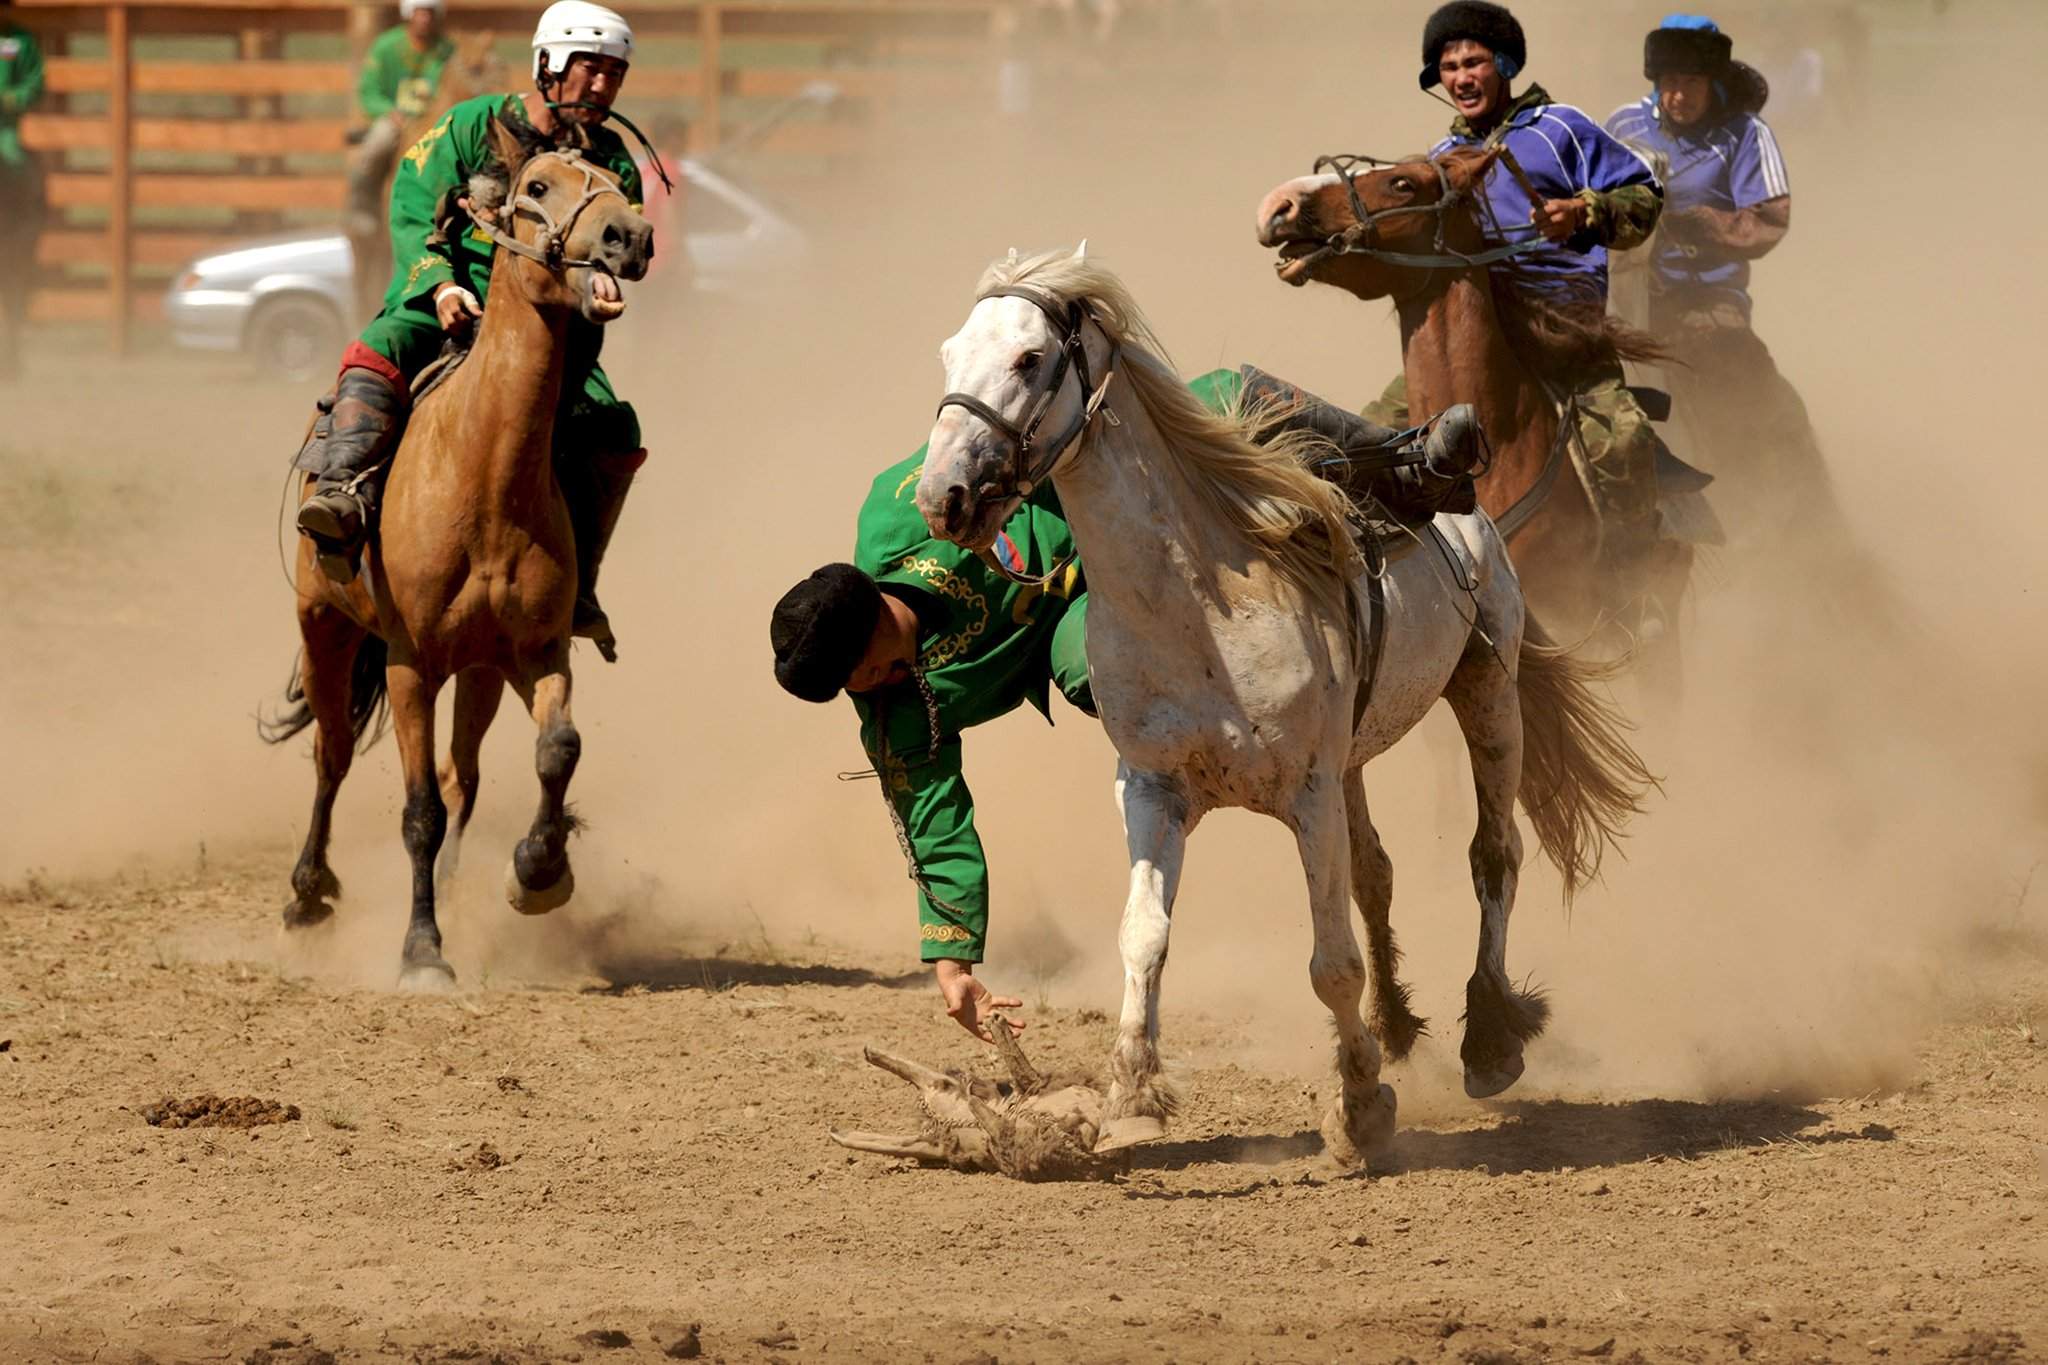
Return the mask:
{"type": "MultiPolygon", "coordinates": [[[[526,63],[541,0],[449,0],[449,29],[494,33],[526,63]]],[[[831,158],[860,125],[977,82],[989,0],[676,4],[637,0],[627,108],[674,111],[690,147],[817,80],[829,117],[793,119],[764,156],[831,158]]],[[[233,237],[332,223],[342,205],[356,63],[395,8],[360,0],[18,0],[49,92],[23,119],[49,172],[33,315],[109,325],[115,350],[186,260],[233,237]]]]}

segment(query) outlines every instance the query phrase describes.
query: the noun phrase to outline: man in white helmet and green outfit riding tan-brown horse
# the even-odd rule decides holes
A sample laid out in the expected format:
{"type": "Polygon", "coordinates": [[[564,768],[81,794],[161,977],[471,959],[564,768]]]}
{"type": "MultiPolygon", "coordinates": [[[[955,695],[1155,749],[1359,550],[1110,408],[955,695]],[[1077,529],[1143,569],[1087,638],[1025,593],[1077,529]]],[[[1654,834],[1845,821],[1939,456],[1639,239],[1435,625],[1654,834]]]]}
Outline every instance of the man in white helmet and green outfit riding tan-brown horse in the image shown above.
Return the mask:
{"type": "MultiPolygon", "coordinates": [[[[356,573],[377,481],[365,479],[397,444],[412,377],[440,354],[442,338],[483,315],[492,274],[487,237],[469,223],[469,178],[492,160],[492,119],[516,133],[573,145],[618,176],[635,211],[641,178],[625,141],[604,125],[633,59],[633,29],[586,0],[557,0],[532,35],[532,84],[524,94],[479,94],[442,115],[399,160],[391,182],[391,287],[383,311],[342,354],[334,393],[322,399],[297,467],[319,475],[299,508],[319,567],[338,581],[356,573]]],[[[569,323],[569,362],[555,413],[555,477],[575,528],[575,634],[606,659],[614,636],[596,600],[598,563],[618,524],[627,489],[647,458],[633,405],[598,368],[602,329],[569,323]]]]}

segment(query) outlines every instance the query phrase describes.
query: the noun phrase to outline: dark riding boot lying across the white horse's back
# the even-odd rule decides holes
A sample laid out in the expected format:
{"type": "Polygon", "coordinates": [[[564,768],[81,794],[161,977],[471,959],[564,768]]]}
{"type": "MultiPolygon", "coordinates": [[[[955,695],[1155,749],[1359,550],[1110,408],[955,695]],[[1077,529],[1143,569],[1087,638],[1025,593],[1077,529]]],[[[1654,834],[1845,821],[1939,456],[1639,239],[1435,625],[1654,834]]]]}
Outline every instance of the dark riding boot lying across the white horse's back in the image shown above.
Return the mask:
{"type": "Polygon", "coordinates": [[[1280,413],[1257,432],[1257,438],[1305,430],[1329,440],[1346,458],[1333,465],[1327,477],[1354,499],[1372,499],[1395,514],[1415,518],[1470,512],[1477,505],[1473,475],[1483,469],[1485,436],[1470,403],[1446,407],[1419,438],[1401,442],[1401,432],[1368,422],[1253,364],[1239,366],[1239,372],[1245,381],[1245,399],[1274,403],[1280,413]]]}

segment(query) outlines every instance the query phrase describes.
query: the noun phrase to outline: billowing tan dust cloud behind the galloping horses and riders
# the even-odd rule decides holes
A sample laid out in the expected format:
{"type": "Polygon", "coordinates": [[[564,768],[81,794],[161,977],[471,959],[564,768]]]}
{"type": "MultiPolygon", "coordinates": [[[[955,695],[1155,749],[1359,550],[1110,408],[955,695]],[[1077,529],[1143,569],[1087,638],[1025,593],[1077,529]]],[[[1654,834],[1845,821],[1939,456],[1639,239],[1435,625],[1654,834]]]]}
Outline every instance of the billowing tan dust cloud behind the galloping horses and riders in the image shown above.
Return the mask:
{"type": "MultiPolygon", "coordinates": [[[[1386,307],[1274,282],[1251,209],[1317,153],[1440,135],[1448,113],[1413,86],[1425,8],[1262,4],[1223,37],[1038,51],[1026,111],[1004,113],[991,82],[942,123],[887,123],[856,172],[795,186],[811,250],[756,295],[635,297],[606,360],[653,456],[604,581],[623,663],[578,657],[582,890],[541,923],[502,905],[535,800],[530,729],[506,708],[444,919],[469,984],[815,943],[915,966],[877,790],[836,780],[862,767],[852,714],[774,688],[770,604],[850,553],[872,473],[930,426],[938,342],[1010,246],[1087,237],[1184,372],[1255,360],[1354,405],[1376,393],[1399,366],[1386,307]]],[[[1602,35],[1577,6],[1518,10],[1530,76],[1554,96],[1604,117],[1638,94],[1651,10],[1602,35]]],[[[1931,1017],[1980,995],[1987,941],[2040,950],[2048,892],[2025,884],[2048,855],[2048,548],[2025,510],[2048,467],[2011,395],[2048,360],[2048,284],[2009,244],[2044,190],[1980,137],[1964,82],[1974,51],[2040,47],[2044,23],[2034,4],[1942,14],[1866,6],[1853,45],[1784,20],[1788,45],[1833,65],[1827,102],[1778,123],[1798,217],[1755,272],[1757,329],[1812,409],[1898,620],[1817,624],[1769,546],[1702,575],[1683,714],[1642,735],[1665,792],[1626,862],[1569,917],[1548,868],[1528,868],[1509,964],[1550,988],[1556,1023],[1520,1097],[1894,1087],[1931,1017]]],[[[1739,55],[1759,41],[1737,29],[1739,55]]],[[[252,716],[295,649],[274,514],[313,393],[188,358],[37,360],[0,436],[14,587],[0,880],[176,868],[203,845],[283,853],[311,776],[303,745],[264,749],[252,716]]],[[[1851,602],[1860,587],[1851,575],[1851,602]]],[[[1444,714],[1427,729],[1452,733],[1444,714]]],[[[985,976],[1034,1005],[1114,1009],[1110,772],[1100,729],[1065,708],[1051,735],[1022,712],[969,739],[997,902],[985,976]]],[[[1436,1021],[1393,1076],[1409,1115],[1464,1105],[1477,907],[1462,759],[1446,772],[1419,741],[1368,769],[1405,972],[1436,1021]]],[[[332,939],[274,948],[264,921],[250,952],[387,984],[408,884],[397,819],[385,743],[340,802],[350,894],[332,939]]],[[[285,870],[281,855],[279,900],[285,870]]],[[[1247,1064],[1317,1076],[1329,1033],[1288,833],[1210,817],[1176,921],[1167,1046],[1176,1011],[1202,1009],[1241,1019],[1247,1064]]]]}

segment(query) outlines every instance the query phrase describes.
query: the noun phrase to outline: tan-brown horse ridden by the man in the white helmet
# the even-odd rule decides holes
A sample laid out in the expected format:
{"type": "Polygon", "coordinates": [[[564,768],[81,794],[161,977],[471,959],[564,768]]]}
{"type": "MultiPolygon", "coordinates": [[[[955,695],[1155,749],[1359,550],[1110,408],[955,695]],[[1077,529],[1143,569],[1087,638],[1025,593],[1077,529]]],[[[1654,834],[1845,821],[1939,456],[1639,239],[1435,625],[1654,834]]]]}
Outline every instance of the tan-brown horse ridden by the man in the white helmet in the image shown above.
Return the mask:
{"type": "Polygon", "coordinates": [[[434,857],[453,804],[442,874],[453,872],[477,802],[477,753],[508,681],[541,726],[541,810],[512,853],[506,894],[514,909],[539,915],[575,888],[565,792],[582,753],[569,720],[578,583],[575,538],[555,481],[555,407],[569,319],[606,323],[623,313],[616,280],[645,276],[653,254],[653,229],[606,170],[502,123],[492,141],[502,182],[471,180],[477,221],[498,239],[477,342],[399,442],[365,573],[338,585],[315,565],[311,540],[299,542],[305,649],[285,694],[291,710],[264,731],[279,743],[313,726],[313,819],[285,907],[285,927],[301,929],[334,913],[334,796],[356,747],[381,729],[389,698],[412,855],[399,984],[414,988],[455,978],[434,923],[434,857]],[[494,194],[504,207],[489,205],[494,194]],[[434,698],[449,679],[455,735],[436,782],[434,698]]]}

